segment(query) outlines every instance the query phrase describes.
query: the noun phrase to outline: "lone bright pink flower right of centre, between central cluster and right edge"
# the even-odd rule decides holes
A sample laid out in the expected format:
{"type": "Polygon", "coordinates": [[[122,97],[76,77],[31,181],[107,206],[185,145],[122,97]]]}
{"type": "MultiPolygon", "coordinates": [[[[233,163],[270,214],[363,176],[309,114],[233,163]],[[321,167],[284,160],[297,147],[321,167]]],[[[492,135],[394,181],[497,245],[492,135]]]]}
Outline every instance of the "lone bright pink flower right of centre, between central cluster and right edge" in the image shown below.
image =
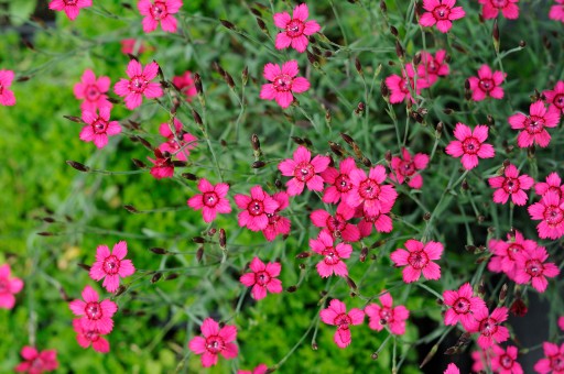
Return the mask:
{"type": "Polygon", "coordinates": [[[470,130],[464,123],[456,123],[454,129],[454,138],[446,146],[446,154],[453,157],[463,157],[460,160],[465,169],[470,170],[478,166],[478,158],[491,158],[496,155],[496,151],[491,144],[484,143],[488,139],[488,127],[478,124],[470,130]]]}

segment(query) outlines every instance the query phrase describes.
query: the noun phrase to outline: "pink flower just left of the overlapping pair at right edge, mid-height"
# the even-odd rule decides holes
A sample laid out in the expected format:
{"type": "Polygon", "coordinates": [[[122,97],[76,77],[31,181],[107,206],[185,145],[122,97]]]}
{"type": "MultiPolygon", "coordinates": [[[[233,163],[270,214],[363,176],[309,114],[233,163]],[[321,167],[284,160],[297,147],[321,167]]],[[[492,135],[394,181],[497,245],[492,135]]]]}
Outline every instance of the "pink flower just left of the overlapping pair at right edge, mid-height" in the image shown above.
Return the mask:
{"type": "Polygon", "coordinates": [[[503,169],[505,176],[492,177],[488,179],[491,188],[497,188],[494,193],[494,202],[506,204],[511,196],[511,201],[517,206],[524,206],[529,196],[524,193],[534,185],[534,179],[523,174],[519,176],[519,169],[513,164],[509,164],[503,169]]]}

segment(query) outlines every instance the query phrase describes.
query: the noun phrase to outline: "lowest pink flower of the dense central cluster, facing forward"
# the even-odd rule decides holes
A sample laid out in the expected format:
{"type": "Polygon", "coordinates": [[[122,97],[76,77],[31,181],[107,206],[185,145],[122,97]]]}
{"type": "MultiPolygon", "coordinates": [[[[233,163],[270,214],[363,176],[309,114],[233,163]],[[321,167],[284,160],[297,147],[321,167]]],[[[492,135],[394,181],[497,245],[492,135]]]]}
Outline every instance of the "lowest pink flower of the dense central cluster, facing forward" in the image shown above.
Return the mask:
{"type": "Polygon", "coordinates": [[[347,264],[343,258],[349,258],[352,253],[350,244],[338,243],[334,246],[334,240],[326,231],[319,232],[317,239],[310,240],[310,248],[317,254],[324,256],[317,263],[317,273],[326,278],[333,274],[346,277],[348,275],[347,264]]]}

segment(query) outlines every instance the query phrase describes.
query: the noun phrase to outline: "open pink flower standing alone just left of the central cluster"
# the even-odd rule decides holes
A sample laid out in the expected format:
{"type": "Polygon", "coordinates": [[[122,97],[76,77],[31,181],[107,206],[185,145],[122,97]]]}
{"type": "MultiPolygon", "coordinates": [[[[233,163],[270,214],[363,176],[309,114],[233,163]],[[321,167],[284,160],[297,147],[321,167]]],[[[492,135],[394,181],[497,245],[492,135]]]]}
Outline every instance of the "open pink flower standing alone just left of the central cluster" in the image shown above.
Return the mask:
{"type": "Polygon", "coordinates": [[[188,199],[188,207],[199,210],[204,217],[204,222],[212,222],[216,219],[217,213],[226,215],[231,212],[231,205],[226,198],[229,191],[229,185],[218,183],[212,185],[206,178],[198,182],[198,189],[202,195],[193,196],[188,199]]]}

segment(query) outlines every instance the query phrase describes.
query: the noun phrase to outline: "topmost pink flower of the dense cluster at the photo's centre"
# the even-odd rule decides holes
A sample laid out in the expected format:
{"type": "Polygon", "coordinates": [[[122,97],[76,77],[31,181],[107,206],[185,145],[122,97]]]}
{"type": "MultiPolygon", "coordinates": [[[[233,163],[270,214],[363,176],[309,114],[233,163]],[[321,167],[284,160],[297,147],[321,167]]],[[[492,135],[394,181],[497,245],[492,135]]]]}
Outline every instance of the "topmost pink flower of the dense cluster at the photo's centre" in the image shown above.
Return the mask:
{"type": "Polygon", "coordinates": [[[294,151],[294,160],[286,158],[278,164],[283,176],[293,177],[286,182],[288,195],[295,196],[303,193],[304,187],[312,191],[323,190],[323,178],[318,175],[329,165],[329,157],[317,155],[313,157],[305,146],[294,151]]]}

